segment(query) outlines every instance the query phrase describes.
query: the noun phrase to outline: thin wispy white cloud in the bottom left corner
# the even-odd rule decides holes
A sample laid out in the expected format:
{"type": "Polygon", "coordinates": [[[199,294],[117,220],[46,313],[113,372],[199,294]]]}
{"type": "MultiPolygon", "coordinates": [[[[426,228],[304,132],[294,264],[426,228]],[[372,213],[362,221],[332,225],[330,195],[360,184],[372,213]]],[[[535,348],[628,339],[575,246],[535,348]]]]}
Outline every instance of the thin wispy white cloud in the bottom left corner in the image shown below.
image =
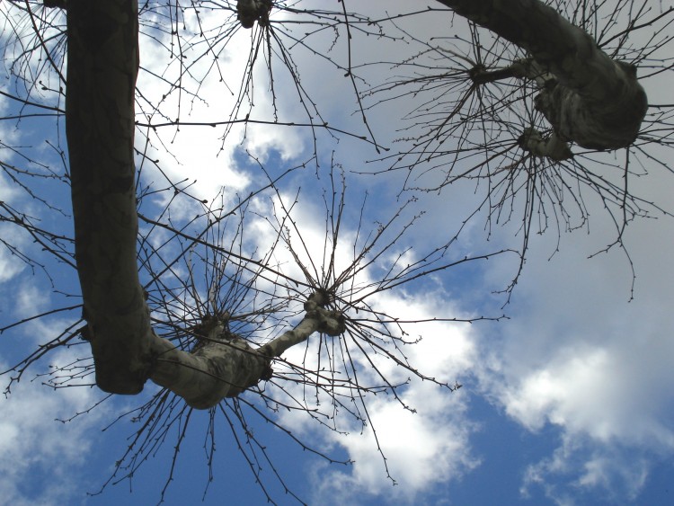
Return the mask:
{"type": "MultiPolygon", "coordinates": [[[[50,361],[74,359],[75,353],[62,351],[50,361]]],[[[6,367],[0,364],[0,369],[6,367]]],[[[0,503],[56,506],[84,495],[92,484],[82,482],[82,470],[95,444],[94,426],[107,410],[99,407],[67,423],[57,419],[83,412],[101,396],[89,387],[52,390],[23,377],[11,395],[0,397],[0,503]]]]}

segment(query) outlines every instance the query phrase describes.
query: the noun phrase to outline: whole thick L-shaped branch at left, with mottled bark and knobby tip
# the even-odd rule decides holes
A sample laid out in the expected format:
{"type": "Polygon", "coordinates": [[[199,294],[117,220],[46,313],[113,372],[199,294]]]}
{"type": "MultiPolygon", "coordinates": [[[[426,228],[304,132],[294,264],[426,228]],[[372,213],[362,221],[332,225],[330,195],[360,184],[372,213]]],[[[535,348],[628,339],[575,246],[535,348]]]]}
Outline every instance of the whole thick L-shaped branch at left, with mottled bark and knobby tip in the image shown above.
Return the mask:
{"type": "Polygon", "coordinates": [[[297,327],[259,350],[217,324],[194,353],[152,330],[137,271],[134,93],[136,0],[68,0],[67,143],[75,260],[96,383],[137,394],[147,379],[205,409],[270,375],[270,359],[316,331],[344,324],[309,297],[297,327]]]}

